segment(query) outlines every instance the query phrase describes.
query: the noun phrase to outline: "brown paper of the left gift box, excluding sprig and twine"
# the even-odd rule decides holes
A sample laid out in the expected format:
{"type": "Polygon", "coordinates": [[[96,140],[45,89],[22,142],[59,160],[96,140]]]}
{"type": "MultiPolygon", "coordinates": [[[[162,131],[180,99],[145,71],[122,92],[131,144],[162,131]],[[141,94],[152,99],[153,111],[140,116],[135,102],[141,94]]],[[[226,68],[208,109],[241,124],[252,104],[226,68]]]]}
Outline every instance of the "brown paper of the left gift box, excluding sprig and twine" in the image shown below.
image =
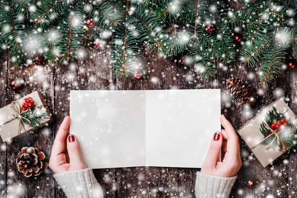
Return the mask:
{"type": "MultiPolygon", "coordinates": [[[[52,122],[53,119],[51,117],[49,108],[47,107],[47,105],[43,105],[46,102],[42,93],[36,91],[16,101],[22,104],[24,102],[24,99],[28,97],[31,97],[34,100],[35,107],[42,106],[40,111],[41,113],[48,114],[48,118],[44,118],[40,120],[41,124],[44,126],[45,124],[52,122]]],[[[10,108],[10,104],[0,109],[0,135],[3,142],[6,142],[11,139],[19,138],[20,136],[24,135],[25,132],[31,132],[39,128],[38,126],[32,127],[24,124],[25,131],[24,131],[24,128],[22,127],[19,132],[18,130],[19,130],[20,121],[19,119],[14,118],[13,115],[15,114],[16,114],[15,111],[12,108],[10,108]],[[11,118],[14,118],[14,119],[9,121],[11,118]]]]}

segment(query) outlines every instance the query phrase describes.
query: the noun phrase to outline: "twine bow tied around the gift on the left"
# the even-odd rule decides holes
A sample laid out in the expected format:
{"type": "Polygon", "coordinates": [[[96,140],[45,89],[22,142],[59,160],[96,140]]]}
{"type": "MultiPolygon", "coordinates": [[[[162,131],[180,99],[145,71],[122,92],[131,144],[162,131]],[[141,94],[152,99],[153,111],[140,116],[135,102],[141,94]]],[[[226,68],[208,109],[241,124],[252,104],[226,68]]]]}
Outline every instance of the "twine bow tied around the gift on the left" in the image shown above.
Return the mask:
{"type": "MultiPolygon", "coordinates": [[[[47,104],[43,103],[42,105],[35,107],[35,108],[39,108],[41,106],[46,106],[46,105],[47,104]]],[[[18,119],[19,120],[19,127],[18,127],[18,132],[17,132],[18,135],[21,133],[22,129],[24,129],[24,131],[26,131],[25,125],[33,126],[33,123],[28,118],[26,118],[22,115],[23,112],[21,112],[21,104],[18,101],[12,101],[10,103],[10,108],[15,112],[15,115],[12,114],[13,118],[7,120],[6,122],[2,123],[1,125],[4,125],[4,124],[10,122],[13,119],[18,119]]]]}

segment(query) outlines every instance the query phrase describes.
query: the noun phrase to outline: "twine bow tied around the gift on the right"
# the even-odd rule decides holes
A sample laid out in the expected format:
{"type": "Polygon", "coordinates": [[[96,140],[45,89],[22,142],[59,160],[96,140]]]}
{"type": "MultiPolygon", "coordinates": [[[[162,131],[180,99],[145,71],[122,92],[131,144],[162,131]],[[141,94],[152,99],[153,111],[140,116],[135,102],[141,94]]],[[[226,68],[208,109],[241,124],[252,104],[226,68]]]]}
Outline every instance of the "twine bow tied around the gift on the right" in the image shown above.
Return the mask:
{"type": "MultiPolygon", "coordinates": [[[[262,116],[262,115],[261,115],[262,116]]],[[[263,116],[262,116],[263,117],[263,116]]],[[[295,119],[297,118],[297,116],[295,117],[295,119]]],[[[289,119],[290,120],[290,119],[289,119]]],[[[266,136],[261,142],[259,142],[258,144],[256,144],[255,146],[253,146],[252,148],[249,148],[249,150],[252,150],[253,148],[257,147],[258,145],[260,145],[262,142],[264,142],[265,140],[267,140],[270,136],[274,135],[273,140],[271,141],[271,143],[269,143],[269,145],[267,145],[266,149],[270,148],[275,141],[277,141],[277,146],[279,148],[280,151],[285,151],[287,148],[287,145],[285,144],[285,141],[283,140],[283,138],[280,136],[280,133],[282,133],[284,130],[280,130],[278,132],[275,132],[270,126],[269,124],[267,124],[267,122],[265,121],[265,118],[263,118],[263,122],[265,124],[265,126],[267,127],[267,129],[271,132],[271,134],[269,134],[268,136],[266,136]],[[281,147],[280,147],[281,144],[281,147]]]]}

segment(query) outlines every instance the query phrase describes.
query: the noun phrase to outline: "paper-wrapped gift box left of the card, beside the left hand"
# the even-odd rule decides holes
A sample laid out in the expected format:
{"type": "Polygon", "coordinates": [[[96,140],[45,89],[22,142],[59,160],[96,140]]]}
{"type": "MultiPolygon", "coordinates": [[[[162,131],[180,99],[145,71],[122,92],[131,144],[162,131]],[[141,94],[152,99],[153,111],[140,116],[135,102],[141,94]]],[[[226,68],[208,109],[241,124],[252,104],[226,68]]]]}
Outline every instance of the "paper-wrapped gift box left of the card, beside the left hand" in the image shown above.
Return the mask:
{"type": "MultiPolygon", "coordinates": [[[[44,126],[52,122],[53,119],[51,113],[41,92],[36,91],[14,101],[17,102],[17,105],[14,105],[14,107],[17,107],[17,109],[19,109],[19,105],[24,102],[24,99],[29,97],[34,100],[34,105],[31,111],[33,111],[34,108],[38,108],[36,109],[36,115],[45,115],[42,119],[39,119],[41,125],[44,126]]],[[[37,128],[40,128],[40,126],[38,126],[37,124],[32,124],[33,126],[26,124],[26,120],[24,118],[22,118],[23,120],[21,121],[20,116],[18,116],[17,112],[11,107],[12,105],[10,103],[9,105],[4,106],[0,109],[0,135],[3,142],[18,138],[26,132],[31,132],[36,130],[37,128]]],[[[22,114],[23,112],[25,111],[20,110],[20,114],[22,114]]]]}

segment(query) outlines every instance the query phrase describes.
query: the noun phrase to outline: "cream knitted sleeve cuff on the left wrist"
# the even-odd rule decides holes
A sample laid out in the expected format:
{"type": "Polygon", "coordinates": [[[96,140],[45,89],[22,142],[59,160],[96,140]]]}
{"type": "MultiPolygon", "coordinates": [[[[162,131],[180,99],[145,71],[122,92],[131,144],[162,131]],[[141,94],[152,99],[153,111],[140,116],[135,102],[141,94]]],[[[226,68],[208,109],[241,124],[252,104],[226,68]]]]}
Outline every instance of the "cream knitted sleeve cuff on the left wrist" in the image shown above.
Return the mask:
{"type": "Polygon", "coordinates": [[[67,198],[103,198],[103,193],[91,168],[54,174],[67,198]]]}

